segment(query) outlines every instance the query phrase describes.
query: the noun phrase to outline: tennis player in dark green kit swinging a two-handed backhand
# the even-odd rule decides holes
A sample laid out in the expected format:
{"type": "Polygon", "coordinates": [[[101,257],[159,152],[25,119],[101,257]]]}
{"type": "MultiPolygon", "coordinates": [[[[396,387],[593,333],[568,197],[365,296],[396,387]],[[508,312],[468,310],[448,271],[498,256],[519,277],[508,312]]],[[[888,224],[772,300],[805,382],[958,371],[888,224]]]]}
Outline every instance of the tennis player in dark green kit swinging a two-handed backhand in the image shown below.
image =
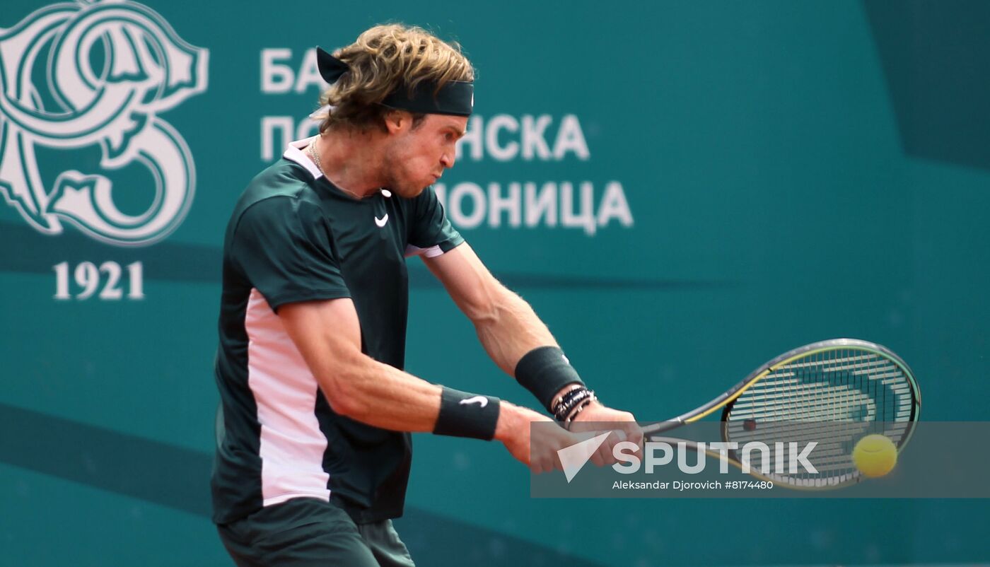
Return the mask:
{"type": "MultiPolygon", "coordinates": [[[[531,460],[530,424],[548,418],[403,371],[406,256],[423,258],[492,360],[558,421],[623,422],[635,442],[642,431],[597,402],[430,188],[473,104],[459,47],[390,25],[318,54],[331,84],[320,134],[250,182],[227,228],[213,520],[244,567],[408,566],[390,519],[403,511],[411,431],[498,439],[535,470],[559,468],[555,449],[576,437],[554,427],[531,460]]],[[[443,342],[438,331],[437,356],[443,342]]],[[[611,444],[593,460],[608,462],[611,444]]]]}

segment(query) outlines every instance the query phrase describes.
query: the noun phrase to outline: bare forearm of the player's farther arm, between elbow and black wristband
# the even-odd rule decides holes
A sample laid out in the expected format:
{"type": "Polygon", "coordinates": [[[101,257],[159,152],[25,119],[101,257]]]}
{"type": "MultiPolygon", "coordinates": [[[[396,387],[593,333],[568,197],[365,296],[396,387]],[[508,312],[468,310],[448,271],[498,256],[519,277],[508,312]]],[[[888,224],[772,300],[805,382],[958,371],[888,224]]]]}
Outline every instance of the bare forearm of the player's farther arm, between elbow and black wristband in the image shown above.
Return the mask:
{"type": "Polygon", "coordinates": [[[539,346],[556,346],[543,321],[523,298],[498,285],[489,308],[472,318],[481,344],[504,372],[513,376],[516,364],[539,346]]]}

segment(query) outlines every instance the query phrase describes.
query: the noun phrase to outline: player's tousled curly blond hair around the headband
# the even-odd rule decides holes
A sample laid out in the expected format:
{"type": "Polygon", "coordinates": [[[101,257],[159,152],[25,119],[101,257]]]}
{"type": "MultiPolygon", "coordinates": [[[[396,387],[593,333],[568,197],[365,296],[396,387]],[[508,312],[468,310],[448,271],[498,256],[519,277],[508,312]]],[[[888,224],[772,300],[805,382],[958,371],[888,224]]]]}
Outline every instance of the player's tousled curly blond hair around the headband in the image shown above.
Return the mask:
{"type": "Polygon", "coordinates": [[[350,70],[320,96],[321,106],[333,107],[317,116],[321,133],[341,127],[385,129],[382,119],[391,109],[381,103],[390,93],[403,88],[412,93],[423,81],[440,89],[449,81],[474,80],[474,67],[458,44],[415,26],[375,26],[334,56],[350,70]]]}

